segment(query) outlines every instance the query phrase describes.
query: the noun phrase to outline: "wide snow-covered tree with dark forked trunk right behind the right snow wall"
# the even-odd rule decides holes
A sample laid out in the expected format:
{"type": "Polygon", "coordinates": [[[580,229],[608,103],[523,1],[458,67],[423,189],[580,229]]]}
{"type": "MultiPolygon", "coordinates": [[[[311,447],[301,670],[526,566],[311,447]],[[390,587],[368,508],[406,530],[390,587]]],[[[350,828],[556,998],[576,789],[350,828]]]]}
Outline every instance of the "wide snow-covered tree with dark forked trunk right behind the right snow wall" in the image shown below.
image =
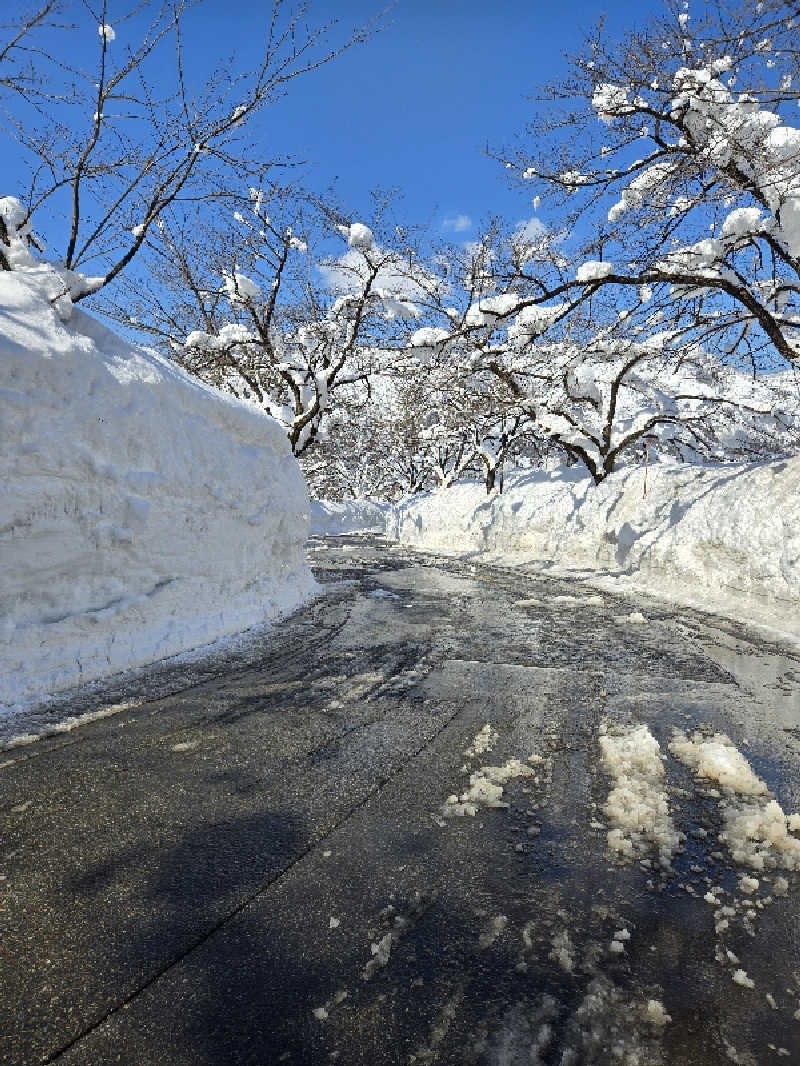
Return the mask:
{"type": "MultiPolygon", "coordinates": [[[[501,413],[507,425],[519,419],[532,439],[582,462],[597,483],[645,440],[701,461],[798,449],[795,372],[726,367],[675,322],[670,293],[637,291],[622,310],[605,287],[577,306],[537,303],[537,260],[564,270],[547,244],[521,253],[518,235],[495,227],[447,270],[451,306],[411,336],[411,350],[463,376],[473,399],[460,400],[462,411],[501,413]],[[464,256],[471,256],[466,271],[464,256]]],[[[491,464],[491,447],[484,454],[491,464]]]]}

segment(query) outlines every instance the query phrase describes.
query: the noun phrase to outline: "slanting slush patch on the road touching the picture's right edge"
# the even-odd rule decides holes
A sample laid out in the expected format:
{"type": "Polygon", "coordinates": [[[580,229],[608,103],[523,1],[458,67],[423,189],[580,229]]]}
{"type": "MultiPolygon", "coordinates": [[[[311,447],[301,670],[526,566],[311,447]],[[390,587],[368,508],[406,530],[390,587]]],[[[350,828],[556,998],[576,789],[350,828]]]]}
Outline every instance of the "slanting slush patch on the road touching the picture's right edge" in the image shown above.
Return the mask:
{"type": "MultiPolygon", "coordinates": [[[[754,870],[800,870],[800,814],[784,814],[767,786],[757,777],[743,755],[727,737],[707,739],[695,733],[689,740],[678,733],[670,744],[672,754],[698,777],[717,781],[724,822],[720,839],[736,862],[754,870]]],[[[743,878],[743,891],[758,887],[754,878],[743,878]]]]}

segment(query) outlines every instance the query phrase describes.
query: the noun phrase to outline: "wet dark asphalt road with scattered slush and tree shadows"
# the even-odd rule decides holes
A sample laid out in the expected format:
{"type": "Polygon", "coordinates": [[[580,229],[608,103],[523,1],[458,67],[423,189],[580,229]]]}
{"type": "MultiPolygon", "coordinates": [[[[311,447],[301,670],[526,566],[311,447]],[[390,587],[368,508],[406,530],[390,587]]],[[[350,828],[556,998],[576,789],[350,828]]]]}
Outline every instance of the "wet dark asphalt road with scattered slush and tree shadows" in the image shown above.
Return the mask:
{"type": "Polygon", "coordinates": [[[0,750],[0,1062],[800,1063],[800,656],[310,545],[267,637],[0,750]]]}

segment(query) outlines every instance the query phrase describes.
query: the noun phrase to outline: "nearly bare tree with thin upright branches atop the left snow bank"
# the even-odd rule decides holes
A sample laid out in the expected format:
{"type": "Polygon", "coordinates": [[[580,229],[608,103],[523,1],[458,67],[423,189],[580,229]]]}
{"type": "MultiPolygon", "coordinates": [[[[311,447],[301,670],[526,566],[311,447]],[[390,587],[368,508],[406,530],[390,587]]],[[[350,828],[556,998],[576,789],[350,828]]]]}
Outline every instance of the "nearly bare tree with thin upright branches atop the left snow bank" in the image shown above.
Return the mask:
{"type": "Polygon", "coordinates": [[[227,200],[284,162],[253,139],[257,116],[292,79],[369,33],[315,28],[309,3],[289,12],[273,0],[254,26],[255,65],[188,74],[183,30],[196,6],[100,0],[70,6],[75,23],[58,27],[65,4],[45,0],[0,37],[2,152],[27,167],[20,200],[74,302],[146,253],[172,206],[227,200]]]}

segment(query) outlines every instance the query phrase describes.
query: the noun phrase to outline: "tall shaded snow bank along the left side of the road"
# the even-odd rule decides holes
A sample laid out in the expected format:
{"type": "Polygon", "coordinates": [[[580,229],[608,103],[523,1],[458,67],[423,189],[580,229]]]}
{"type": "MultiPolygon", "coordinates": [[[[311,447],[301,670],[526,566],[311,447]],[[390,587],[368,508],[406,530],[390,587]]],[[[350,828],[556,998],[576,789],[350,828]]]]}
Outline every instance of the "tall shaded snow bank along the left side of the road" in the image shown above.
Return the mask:
{"type": "Polygon", "coordinates": [[[281,427],[0,275],[0,705],[207,644],[315,588],[281,427]]]}

